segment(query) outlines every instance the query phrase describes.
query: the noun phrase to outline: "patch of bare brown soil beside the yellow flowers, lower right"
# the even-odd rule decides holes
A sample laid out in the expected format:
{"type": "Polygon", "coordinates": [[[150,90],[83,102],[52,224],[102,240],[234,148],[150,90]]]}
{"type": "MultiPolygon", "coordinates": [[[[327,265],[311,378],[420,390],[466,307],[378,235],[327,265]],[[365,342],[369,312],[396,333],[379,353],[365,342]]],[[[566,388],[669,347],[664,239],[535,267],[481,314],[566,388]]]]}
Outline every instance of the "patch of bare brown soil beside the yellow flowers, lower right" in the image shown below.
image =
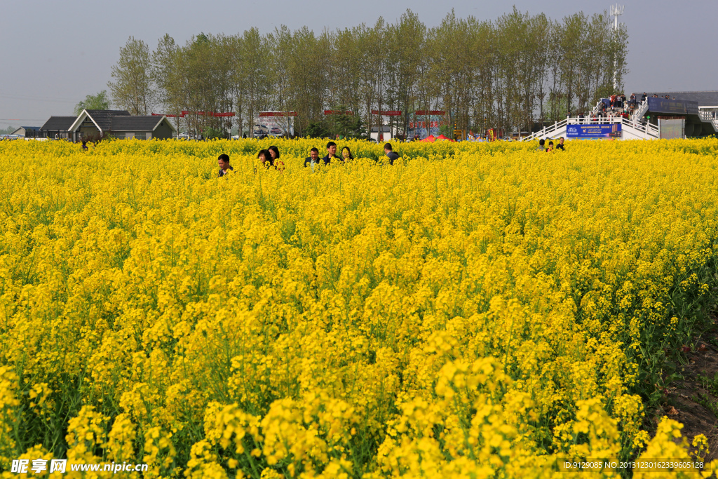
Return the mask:
{"type": "Polygon", "coordinates": [[[688,358],[683,366],[684,378],[666,388],[663,409],[653,411],[653,424],[661,416],[681,422],[681,432],[689,444],[695,436],[704,434],[710,450],[706,460],[718,459],[718,315],[712,317],[712,329],[684,346],[688,358]]]}

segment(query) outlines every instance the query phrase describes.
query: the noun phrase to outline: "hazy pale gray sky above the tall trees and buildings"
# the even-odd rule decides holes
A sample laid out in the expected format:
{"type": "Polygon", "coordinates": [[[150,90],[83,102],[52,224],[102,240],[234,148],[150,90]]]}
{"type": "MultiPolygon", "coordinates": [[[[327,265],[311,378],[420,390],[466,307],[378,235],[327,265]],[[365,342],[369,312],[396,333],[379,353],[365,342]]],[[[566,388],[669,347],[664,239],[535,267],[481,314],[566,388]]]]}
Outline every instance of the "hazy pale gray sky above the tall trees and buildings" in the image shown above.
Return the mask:
{"type": "MultiPolygon", "coordinates": [[[[718,0],[625,0],[630,73],[626,92],[718,90],[718,0]]],[[[70,115],[85,95],[106,89],[110,68],[128,37],[151,49],[165,33],[184,44],[192,34],[270,32],[280,24],[314,32],[393,22],[406,9],[434,27],[454,8],[458,17],[496,19],[512,5],[559,19],[592,14],[610,1],[515,2],[215,0],[3,1],[0,9],[0,128],[40,126],[50,115],[70,115]]]]}

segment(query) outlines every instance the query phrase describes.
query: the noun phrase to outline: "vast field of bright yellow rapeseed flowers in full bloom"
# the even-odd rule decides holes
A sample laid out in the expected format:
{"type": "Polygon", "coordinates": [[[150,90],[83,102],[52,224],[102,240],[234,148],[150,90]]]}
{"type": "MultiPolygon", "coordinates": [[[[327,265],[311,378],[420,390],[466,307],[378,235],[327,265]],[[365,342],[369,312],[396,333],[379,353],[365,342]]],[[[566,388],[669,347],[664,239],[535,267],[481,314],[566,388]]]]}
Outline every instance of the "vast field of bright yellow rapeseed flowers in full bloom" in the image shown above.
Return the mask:
{"type": "Polygon", "coordinates": [[[345,144],[312,172],[320,140],[0,142],[1,477],[694,457],[647,413],[718,285],[717,139],[345,144]]]}

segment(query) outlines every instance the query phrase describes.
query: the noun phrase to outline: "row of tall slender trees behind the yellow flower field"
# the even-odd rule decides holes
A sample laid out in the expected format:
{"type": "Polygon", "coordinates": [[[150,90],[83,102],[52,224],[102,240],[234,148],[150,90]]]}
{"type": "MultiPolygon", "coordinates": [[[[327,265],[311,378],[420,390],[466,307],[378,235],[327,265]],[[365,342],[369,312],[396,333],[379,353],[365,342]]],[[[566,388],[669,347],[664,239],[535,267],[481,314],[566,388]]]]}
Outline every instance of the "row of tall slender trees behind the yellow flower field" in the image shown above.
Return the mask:
{"type": "MultiPolygon", "coordinates": [[[[560,20],[514,7],[495,21],[447,14],[427,28],[407,10],[395,23],[269,34],[198,34],[185,45],[165,34],[154,51],[130,37],[108,83],[115,106],[133,114],[236,112],[234,118],[189,115],[182,129],[253,133],[259,111],[296,111],[299,135],[378,126],[389,116],[400,133],[414,111],[447,112],[460,129],[531,129],[568,111],[588,111],[619,90],[628,73],[628,32],[614,32],[607,12],[560,20]],[[325,110],[353,111],[332,119],[325,110]]],[[[417,118],[421,119],[421,118],[417,118]]],[[[180,121],[179,119],[177,121],[180,121]]]]}

